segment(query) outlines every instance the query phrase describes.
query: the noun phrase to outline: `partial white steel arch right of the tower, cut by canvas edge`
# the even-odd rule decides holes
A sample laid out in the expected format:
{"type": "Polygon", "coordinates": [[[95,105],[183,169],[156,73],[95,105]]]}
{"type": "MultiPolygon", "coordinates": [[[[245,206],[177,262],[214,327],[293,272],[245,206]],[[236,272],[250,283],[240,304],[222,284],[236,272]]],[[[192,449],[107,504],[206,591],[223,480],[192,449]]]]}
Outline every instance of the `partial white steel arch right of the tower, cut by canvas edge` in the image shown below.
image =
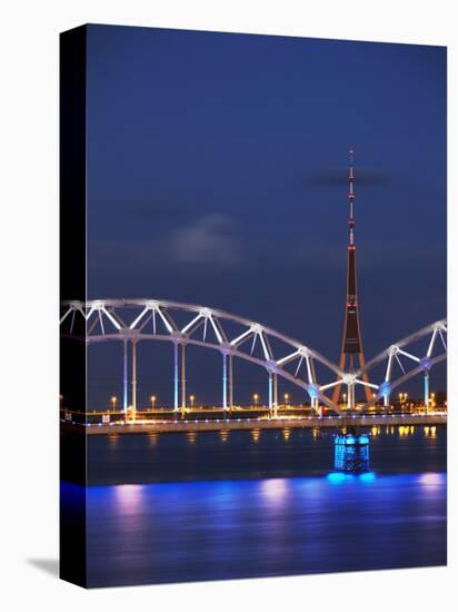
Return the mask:
{"type": "MultiPolygon", "coordinates": [[[[391,392],[399,385],[406,383],[417,374],[425,376],[425,405],[429,403],[429,371],[439,362],[447,358],[447,320],[437,320],[419,329],[415,334],[392,344],[386,351],[367,362],[364,368],[359,369],[355,378],[359,382],[364,374],[381,366],[385,377],[379,384],[372,384],[376,391],[375,398],[384,398],[385,406],[389,405],[391,392]],[[415,348],[416,343],[422,340],[425,349],[419,352],[415,348]]],[[[362,408],[371,404],[367,402],[362,408]]]]}

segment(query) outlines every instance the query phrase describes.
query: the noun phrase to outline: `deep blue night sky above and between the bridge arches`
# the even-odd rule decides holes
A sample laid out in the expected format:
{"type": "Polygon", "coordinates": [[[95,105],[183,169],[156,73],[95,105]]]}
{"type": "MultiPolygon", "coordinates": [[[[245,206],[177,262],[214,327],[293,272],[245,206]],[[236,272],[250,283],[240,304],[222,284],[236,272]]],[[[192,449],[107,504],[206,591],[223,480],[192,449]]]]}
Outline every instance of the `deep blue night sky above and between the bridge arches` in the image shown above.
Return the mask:
{"type": "MultiPolygon", "coordinates": [[[[446,316],[445,48],[93,26],[87,100],[89,298],[222,308],[337,361],[352,146],[367,357],[446,316]]],[[[141,403],[171,402],[157,345],[141,403]]],[[[103,402],[121,349],[92,348],[103,402]]]]}

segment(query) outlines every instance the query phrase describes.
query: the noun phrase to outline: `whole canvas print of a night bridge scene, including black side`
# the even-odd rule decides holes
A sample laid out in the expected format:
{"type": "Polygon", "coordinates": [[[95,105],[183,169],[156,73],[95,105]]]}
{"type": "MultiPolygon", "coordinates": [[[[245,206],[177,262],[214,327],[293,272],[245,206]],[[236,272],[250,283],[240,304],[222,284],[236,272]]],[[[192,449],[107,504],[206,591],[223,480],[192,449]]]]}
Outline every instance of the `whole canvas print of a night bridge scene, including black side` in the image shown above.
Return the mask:
{"type": "Polygon", "coordinates": [[[61,578],[446,564],[446,48],[60,53],[61,578]]]}

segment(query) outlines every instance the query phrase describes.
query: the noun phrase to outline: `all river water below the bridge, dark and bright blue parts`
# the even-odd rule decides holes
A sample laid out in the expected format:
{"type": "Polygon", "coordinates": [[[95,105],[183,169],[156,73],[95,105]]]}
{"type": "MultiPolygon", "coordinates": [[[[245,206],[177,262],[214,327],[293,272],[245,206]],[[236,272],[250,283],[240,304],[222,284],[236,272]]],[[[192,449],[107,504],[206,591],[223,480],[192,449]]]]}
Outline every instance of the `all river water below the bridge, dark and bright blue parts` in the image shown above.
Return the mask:
{"type": "Polygon", "coordinates": [[[89,585],[445,564],[447,430],[371,433],[346,476],[332,432],[89,436],[89,585]]]}

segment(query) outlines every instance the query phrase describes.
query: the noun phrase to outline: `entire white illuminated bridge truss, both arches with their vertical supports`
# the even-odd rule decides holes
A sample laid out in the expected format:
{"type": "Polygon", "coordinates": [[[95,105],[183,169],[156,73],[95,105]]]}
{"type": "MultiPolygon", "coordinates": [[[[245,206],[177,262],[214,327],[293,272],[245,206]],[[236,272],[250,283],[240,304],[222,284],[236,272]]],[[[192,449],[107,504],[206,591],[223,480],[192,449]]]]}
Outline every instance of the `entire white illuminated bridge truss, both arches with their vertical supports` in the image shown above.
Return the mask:
{"type": "MultiPolygon", "coordinates": [[[[325,392],[338,384],[347,386],[348,407],[355,407],[354,388],[370,386],[375,397],[384,397],[388,405],[391,391],[419,372],[425,373],[446,357],[446,322],[437,322],[417,334],[400,340],[368,362],[362,371],[342,372],[335,363],[309,346],[285,336],[259,323],[225,313],[219,309],[155,299],[96,299],[87,303],[64,302],[62,304],[61,334],[87,344],[101,342],[123,343],[123,409],[128,397],[128,346],[131,345],[131,406],[137,409],[137,343],[143,340],[170,342],[173,345],[173,409],[186,409],[186,347],[195,345],[220,353],[222,359],[222,408],[233,405],[233,357],[256,364],[268,375],[269,409],[277,413],[278,376],[305,389],[311,406],[320,413],[320,404],[342,414],[340,407],[325,392]],[[82,327],[81,327],[82,323],[82,327]],[[406,351],[415,340],[430,335],[427,355],[416,356],[406,351]],[[438,342],[444,353],[434,355],[438,342]],[[434,356],[432,356],[434,355],[434,356]],[[402,359],[414,362],[406,369],[402,359]],[[364,379],[364,374],[387,361],[387,374],[380,384],[364,379]],[[402,375],[395,379],[395,362],[402,375]],[[317,369],[319,368],[318,382],[317,369]],[[325,381],[323,381],[325,378],[325,381]],[[326,381],[327,378],[327,381],[326,381]],[[328,382],[330,381],[330,382],[328,382]]],[[[427,382],[425,387],[427,387],[427,382]]]]}

